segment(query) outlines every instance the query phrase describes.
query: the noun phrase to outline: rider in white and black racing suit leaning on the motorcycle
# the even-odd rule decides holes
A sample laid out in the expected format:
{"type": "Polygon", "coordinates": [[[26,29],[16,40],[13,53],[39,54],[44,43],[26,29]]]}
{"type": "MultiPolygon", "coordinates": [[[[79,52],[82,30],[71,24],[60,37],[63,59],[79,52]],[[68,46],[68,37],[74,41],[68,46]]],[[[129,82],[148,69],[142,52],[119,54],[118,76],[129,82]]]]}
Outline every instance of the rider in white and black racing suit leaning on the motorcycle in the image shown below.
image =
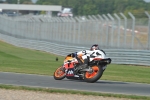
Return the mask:
{"type": "Polygon", "coordinates": [[[88,67],[88,62],[92,61],[94,58],[104,58],[106,54],[103,50],[99,49],[98,44],[94,44],[91,46],[90,50],[82,50],[76,52],[74,55],[77,59],[83,60],[83,64],[80,68],[86,68],[88,67]]]}

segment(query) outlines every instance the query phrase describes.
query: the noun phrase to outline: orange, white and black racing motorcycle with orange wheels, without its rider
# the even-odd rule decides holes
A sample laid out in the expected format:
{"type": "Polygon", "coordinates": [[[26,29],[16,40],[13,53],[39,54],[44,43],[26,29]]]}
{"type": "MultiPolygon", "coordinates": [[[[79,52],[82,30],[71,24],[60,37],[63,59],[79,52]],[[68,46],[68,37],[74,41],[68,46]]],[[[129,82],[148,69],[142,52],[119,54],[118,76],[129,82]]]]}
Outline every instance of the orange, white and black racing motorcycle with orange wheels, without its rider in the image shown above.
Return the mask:
{"type": "Polygon", "coordinates": [[[69,54],[65,57],[64,64],[55,70],[53,76],[55,80],[67,78],[94,83],[101,78],[106,66],[110,63],[110,58],[94,58],[88,63],[88,67],[83,68],[83,60],[69,54]]]}

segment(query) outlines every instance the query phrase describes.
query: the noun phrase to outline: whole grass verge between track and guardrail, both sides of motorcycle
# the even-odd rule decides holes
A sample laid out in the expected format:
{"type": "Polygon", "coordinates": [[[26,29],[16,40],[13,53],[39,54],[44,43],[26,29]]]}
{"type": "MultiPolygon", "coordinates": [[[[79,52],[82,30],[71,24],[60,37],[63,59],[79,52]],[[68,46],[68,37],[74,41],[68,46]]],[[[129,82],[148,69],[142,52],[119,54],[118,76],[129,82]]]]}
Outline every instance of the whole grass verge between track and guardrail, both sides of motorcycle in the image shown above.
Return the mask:
{"type": "MultiPolygon", "coordinates": [[[[0,71],[53,75],[63,64],[64,57],[47,52],[30,50],[0,42],[0,71]],[[56,57],[59,58],[56,61],[56,57]]],[[[108,65],[102,80],[150,84],[150,67],[133,65],[108,65]]]]}

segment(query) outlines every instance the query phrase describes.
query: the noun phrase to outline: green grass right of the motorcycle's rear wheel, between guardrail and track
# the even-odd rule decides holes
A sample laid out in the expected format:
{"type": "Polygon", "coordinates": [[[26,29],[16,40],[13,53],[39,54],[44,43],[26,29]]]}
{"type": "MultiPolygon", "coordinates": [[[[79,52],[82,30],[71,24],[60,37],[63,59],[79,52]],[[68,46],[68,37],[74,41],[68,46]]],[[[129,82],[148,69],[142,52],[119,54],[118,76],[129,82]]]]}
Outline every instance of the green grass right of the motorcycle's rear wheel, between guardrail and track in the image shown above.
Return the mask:
{"type": "Polygon", "coordinates": [[[150,84],[150,67],[133,65],[114,65],[107,67],[101,79],[138,82],[150,84]]]}

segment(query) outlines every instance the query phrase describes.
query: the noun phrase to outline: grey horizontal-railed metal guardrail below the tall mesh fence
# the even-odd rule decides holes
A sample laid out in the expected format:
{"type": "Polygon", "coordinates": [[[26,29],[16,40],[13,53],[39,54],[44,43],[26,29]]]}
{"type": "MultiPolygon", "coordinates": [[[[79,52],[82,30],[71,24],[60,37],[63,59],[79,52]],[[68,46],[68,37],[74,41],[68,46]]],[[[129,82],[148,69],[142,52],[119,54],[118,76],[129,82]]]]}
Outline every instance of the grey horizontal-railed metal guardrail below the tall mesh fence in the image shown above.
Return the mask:
{"type": "MultiPolygon", "coordinates": [[[[34,50],[41,50],[60,56],[66,56],[69,53],[89,49],[89,47],[63,45],[54,42],[21,39],[4,35],[0,33],[0,40],[18,47],[24,47],[34,50]]],[[[150,66],[149,50],[128,50],[128,49],[103,49],[107,57],[112,59],[113,64],[133,64],[150,66]]]]}

